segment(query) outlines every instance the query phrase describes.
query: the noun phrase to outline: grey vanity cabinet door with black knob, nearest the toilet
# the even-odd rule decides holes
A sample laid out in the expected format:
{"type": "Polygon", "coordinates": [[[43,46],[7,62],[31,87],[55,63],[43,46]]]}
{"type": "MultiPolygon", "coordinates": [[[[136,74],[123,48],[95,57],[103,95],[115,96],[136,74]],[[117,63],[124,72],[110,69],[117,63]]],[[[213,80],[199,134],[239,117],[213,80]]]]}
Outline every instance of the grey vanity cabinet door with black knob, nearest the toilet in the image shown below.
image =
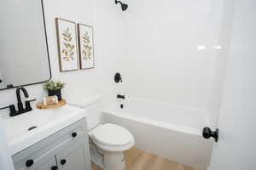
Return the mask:
{"type": "Polygon", "coordinates": [[[59,170],[90,170],[88,150],[85,137],[72,144],[63,145],[63,150],[56,155],[59,170]]]}

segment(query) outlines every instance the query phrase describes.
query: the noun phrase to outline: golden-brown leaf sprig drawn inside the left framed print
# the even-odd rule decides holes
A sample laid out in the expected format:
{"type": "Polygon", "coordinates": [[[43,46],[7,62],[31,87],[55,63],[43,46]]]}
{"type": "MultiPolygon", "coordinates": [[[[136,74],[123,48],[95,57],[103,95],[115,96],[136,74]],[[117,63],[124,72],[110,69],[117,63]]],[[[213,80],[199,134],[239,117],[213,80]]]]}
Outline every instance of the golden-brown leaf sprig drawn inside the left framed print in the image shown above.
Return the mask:
{"type": "Polygon", "coordinates": [[[63,38],[63,44],[64,47],[62,49],[62,54],[64,54],[63,59],[65,59],[66,61],[72,61],[74,59],[74,48],[75,45],[72,44],[72,33],[69,30],[69,27],[67,27],[66,29],[63,30],[62,33],[62,38],[63,38]]]}

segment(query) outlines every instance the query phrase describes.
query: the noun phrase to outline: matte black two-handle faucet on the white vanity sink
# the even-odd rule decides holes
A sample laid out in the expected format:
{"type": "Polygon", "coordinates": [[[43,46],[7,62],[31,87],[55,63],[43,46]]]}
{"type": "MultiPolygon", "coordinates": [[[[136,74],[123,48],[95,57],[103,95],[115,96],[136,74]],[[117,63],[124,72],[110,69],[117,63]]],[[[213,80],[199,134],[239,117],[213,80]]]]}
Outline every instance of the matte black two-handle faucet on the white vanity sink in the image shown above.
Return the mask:
{"type": "Polygon", "coordinates": [[[9,106],[0,108],[0,110],[9,108],[9,116],[17,116],[17,115],[20,115],[22,113],[32,111],[32,107],[30,105],[30,102],[35,101],[36,99],[26,100],[26,102],[25,102],[26,107],[24,109],[21,98],[20,98],[20,90],[23,92],[25,98],[29,97],[28,94],[27,94],[26,88],[20,87],[20,88],[16,89],[16,96],[17,96],[17,100],[18,100],[18,104],[17,104],[18,105],[18,111],[16,111],[15,105],[9,105],[9,106]]]}

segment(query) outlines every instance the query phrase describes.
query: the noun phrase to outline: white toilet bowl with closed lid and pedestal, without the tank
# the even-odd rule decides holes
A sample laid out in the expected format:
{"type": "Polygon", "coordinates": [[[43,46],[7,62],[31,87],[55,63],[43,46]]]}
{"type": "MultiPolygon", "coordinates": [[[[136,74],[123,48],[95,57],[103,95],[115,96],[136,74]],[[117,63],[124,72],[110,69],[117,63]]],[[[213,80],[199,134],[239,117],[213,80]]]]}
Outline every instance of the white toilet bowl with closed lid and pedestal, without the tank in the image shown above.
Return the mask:
{"type": "Polygon", "coordinates": [[[132,134],[115,124],[102,124],[89,132],[90,140],[104,157],[104,170],[124,170],[123,151],[131,149],[135,140],[132,134]]]}

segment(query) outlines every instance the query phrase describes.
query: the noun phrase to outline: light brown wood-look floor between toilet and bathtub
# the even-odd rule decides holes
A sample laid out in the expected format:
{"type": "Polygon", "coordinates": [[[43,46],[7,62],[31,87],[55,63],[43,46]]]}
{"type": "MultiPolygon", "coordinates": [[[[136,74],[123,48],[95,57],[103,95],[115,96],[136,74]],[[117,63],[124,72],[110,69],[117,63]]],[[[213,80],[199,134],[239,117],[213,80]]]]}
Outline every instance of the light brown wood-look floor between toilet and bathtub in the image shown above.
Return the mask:
{"type": "MultiPolygon", "coordinates": [[[[126,170],[195,170],[166,158],[132,148],[125,151],[126,170]]],[[[102,170],[92,164],[92,170],[102,170]]]]}

